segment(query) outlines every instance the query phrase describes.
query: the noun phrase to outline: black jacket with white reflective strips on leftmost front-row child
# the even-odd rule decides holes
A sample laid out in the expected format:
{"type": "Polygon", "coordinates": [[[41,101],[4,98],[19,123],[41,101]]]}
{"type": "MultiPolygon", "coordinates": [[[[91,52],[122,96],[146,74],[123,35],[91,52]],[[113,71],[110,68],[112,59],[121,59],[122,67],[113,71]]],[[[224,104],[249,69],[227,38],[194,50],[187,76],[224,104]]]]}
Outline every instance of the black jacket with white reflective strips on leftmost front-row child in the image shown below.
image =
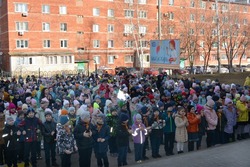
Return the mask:
{"type": "Polygon", "coordinates": [[[18,146],[19,146],[18,140],[20,136],[17,135],[17,131],[18,131],[18,128],[15,125],[6,124],[3,129],[4,144],[8,151],[18,149],[18,146]],[[11,131],[12,131],[12,135],[11,135],[11,131]]]}

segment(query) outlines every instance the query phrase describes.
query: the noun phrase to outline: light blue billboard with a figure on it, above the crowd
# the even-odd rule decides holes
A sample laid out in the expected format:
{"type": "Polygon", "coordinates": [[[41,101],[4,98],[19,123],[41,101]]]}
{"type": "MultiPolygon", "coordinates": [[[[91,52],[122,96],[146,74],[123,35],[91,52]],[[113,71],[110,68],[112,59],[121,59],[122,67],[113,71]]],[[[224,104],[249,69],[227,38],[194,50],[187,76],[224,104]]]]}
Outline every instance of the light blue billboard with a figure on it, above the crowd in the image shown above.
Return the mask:
{"type": "Polygon", "coordinates": [[[152,68],[180,68],[180,40],[152,40],[150,41],[150,67],[152,68]]]}

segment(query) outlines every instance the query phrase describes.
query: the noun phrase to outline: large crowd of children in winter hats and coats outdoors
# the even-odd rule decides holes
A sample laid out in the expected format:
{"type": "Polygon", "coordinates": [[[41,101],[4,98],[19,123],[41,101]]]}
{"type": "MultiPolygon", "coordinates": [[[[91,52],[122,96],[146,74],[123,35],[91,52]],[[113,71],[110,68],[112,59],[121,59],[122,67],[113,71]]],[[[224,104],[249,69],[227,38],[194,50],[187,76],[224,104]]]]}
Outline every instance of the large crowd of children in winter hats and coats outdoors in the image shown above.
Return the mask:
{"type": "MultiPolygon", "coordinates": [[[[247,78],[249,79],[249,78],[247,78]]],[[[105,74],[55,76],[0,81],[0,165],[37,167],[41,149],[46,167],[90,167],[92,152],[98,167],[109,156],[126,166],[134,143],[136,163],[199,150],[249,137],[250,85],[199,81],[183,76],[105,74]],[[150,151],[149,151],[150,150],[150,151]],[[147,154],[148,152],[148,154],[147,154]],[[150,152],[150,153],[149,153],[150,152]]]]}

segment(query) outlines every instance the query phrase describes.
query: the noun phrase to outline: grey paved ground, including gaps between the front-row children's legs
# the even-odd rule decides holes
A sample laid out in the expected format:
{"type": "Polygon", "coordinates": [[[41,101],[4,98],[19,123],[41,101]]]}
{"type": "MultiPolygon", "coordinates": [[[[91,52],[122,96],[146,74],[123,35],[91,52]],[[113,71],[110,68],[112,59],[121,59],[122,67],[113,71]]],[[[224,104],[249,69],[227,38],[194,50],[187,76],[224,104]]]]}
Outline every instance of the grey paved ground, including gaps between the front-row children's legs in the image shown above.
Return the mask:
{"type": "MultiPolygon", "coordinates": [[[[128,153],[128,166],[140,167],[250,167],[250,139],[244,141],[236,141],[235,143],[216,146],[210,149],[206,148],[205,137],[202,142],[202,149],[194,152],[187,152],[187,144],[185,144],[184,154],[176,154],[176,145],[174,148],[175,155],[167,157],[164,152],[164,146],[161,145],[160,153],[162,158],[153,159],[151,150],[147,151],[150,158],[141,164],[134,161],[133,143],[130,143],[132,153],[128,153]]],[[[44,158],[44,155],[43,155],[44,158]]],[[[60,157],[57,157],[60,164],[60,157]]],[[[117,158],[109,156],[110,167],[117,166],[117,158]]],[[[23,165],[19,165],[23,167],[23,165]]],[[[45,160],[38,161],[38,167],[45,167],[45,160]]],[[[72,167],[78,167],[78,154],[72,156],[72,167]]],[[[97,167],[96,159],[92,154],[92,167],[97,167]]]]}

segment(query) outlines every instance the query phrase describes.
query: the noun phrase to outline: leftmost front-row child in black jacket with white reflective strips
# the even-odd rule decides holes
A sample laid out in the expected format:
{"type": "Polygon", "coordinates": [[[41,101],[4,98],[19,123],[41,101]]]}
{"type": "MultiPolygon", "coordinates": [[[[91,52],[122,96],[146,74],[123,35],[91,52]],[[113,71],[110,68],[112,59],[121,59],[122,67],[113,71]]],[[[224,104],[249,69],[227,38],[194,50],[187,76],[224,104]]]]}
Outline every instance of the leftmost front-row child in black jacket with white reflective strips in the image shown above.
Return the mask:
{"type": "Polygon", "coordinates": [[[14,119],[8,117],[3,129],[3,138],[6,148],[5,160],[8,167],[17,167],[18,139],[21,131],[14,124],[14,119]]]}

